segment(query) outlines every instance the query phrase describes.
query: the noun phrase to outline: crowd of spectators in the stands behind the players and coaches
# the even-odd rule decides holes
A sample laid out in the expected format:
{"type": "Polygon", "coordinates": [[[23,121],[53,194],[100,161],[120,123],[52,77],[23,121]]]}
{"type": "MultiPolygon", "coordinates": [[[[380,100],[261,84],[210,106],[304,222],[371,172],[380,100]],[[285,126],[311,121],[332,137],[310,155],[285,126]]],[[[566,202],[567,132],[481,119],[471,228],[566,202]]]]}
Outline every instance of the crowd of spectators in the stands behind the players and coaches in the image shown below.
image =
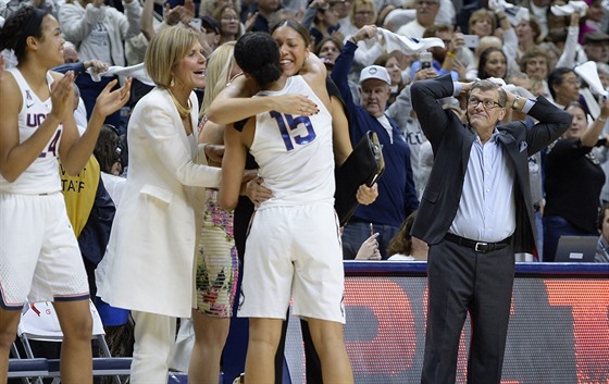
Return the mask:
{"type": "MultiPolygon", "coordinates": [[[[117,75],[99,80],[98,75],[141,65],[149,41],[164,28],[182,24],[192,29],[209,59],[247,32],[269,33],[285,20],[301,23],[311,37],[307,49],[322,59],[338,86],[334,96],[339,94],[344,102],[351,144],[366,131],[376,132],[387,166],[376,201],[358,208],[345,227],[345,259],[426,260],[426,245],[411,236],[410,227],[434,153],[412,109],[414,82],[450,74],[462,83],[489,78],[524,98],[544,96],[573,122],[561,138],[529,159],[537,241],[536,250],[521,260],[554,261],[563,235],[600,235],[596,260],[609,260],[606,1],[9,0],[0,1],[0,26],[22,7],[45,10],[58,20],[66,42],[65,65],[57,71],[74,71],[79,88],[75,116],[83,126],[105,85],[115,78],[125,82],[117,75]],[[389,50],[387,36],[442,45],[389,50]]],[[[11,51],[1,54],[8,69],[16,65],[11,51]]],[[[224,73],[220,83],[240,74],[237,66],[229,69],[234,71],[224,73]]],[[[145,79],[134,80],[130,102],[107,117],[96,148],[101,178],[116,206],[128,171],[129,113],[150,89],[145,79]]],[[[195,91],[199,101],[215,96],[204,87],[195,91]]],[[[443,103],[467,124],[463,98],[448,97],[443,103]]],[[[207,113],[207,107],[201,108],[199,129],[208,122],[207,113]]],[[[512,111],[504,123],[517,120],[535,124],[512,111]]],[[[216,141],[221,145],[222,139],[216,141]]]]}

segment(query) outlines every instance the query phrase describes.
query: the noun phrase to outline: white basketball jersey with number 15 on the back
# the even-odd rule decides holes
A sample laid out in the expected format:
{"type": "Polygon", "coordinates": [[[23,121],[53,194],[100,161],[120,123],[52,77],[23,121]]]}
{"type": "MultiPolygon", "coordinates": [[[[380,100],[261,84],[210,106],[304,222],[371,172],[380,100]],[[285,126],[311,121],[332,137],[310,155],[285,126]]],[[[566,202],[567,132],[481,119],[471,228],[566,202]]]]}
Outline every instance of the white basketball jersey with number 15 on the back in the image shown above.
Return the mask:
{"type": "Polygon", "coordinates": [[[301,76],[289,77],[282,90],[261,91],[258,97],[287,94],[307,96],[320,112],[309,117],[276,111],[257,115],[250,152],[273,191],[260,208],[334,201],[332,115],[301,76]]]}

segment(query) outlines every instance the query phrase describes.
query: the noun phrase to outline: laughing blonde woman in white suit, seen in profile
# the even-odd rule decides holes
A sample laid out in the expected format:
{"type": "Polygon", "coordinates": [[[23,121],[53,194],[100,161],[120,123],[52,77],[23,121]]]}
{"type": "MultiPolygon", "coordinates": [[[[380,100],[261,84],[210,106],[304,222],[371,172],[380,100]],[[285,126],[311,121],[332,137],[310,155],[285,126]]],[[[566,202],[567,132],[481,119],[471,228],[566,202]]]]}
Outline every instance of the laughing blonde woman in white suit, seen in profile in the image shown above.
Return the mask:
{"type": "Polygon", "coordinates": [[[195,212],[200,187],[219,187],[221,171],[201,165],[194,131],[206,58],[195,32],[182,26],[150,41],[146,71],[157,84],[135,107],[127,129],[129,176],[116,212],[101,298],[132,310],[133,384],[165,384],[176,318],[195,304],[195,212]],[[199,164],[197,163],[199,159],[199,164]]]}

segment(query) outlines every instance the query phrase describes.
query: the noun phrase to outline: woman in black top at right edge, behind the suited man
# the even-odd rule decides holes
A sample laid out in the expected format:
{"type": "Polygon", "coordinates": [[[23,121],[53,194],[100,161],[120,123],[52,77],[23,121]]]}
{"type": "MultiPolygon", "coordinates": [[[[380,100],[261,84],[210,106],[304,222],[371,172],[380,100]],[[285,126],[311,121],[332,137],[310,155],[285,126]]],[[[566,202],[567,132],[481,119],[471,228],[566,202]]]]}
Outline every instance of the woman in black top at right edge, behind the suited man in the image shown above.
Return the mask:
{"type": "Polygon", "coordinates": [[[567,112],[573,116],[569,129],[546,156],[546,207],[544,209],[544,261],[554,261],[563,235],[595,236],[605,173],[592,151],[609,117],[609,100],[589,126],[579,102],[567,112]]]}

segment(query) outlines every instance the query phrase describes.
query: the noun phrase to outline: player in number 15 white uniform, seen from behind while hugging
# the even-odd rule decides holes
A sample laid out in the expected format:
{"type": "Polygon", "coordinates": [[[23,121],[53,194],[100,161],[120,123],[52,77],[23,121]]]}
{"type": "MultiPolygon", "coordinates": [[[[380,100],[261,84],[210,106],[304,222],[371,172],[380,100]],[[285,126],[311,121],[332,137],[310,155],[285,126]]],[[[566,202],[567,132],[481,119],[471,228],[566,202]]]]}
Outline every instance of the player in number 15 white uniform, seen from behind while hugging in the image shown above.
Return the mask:
{"type": "Polygon", "coordinates": [[[334,133],[326,71],[310,55],[312,71],[288,77],[279,58],[276,41],[265,34],[246,34],[235,46],[237,64],[262,89],[261,96],[303,94],[315,101],[319,113],[264,112],[243,129],[227,129],[219,193],[223,208],[237,205],[248,151],[273,191],[260,203],[247,239],[239,307],[239,315],[250,318],[246,380],[273,382],[282,320],[294,297],[294,313],[308,319],[323,381],[352,383],[341,325],[344,272],[333,207],[334,133]],[[320,289],[322,296],[311,295],[320,289]]]}

